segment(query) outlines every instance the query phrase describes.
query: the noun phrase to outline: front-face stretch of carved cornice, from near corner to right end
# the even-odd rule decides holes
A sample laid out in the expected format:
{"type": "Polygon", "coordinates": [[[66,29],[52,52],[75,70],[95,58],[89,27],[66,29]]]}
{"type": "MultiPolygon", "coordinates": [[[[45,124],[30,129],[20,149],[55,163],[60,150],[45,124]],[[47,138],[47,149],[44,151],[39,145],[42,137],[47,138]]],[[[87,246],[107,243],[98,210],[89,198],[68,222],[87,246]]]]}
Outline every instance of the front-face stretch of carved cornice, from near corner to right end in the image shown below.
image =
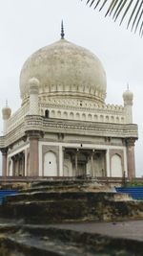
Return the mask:
{"type": "Polygon", "coordinates": [[[70,134],[85,134],[102,137],[134,137],[137,139],[137,125],[134,124],[104,124],[95,122],[82,122],[74,120],[47,119],[40,116],[27,116],[26,127],[44,132],[59,132],[70,134]]]}

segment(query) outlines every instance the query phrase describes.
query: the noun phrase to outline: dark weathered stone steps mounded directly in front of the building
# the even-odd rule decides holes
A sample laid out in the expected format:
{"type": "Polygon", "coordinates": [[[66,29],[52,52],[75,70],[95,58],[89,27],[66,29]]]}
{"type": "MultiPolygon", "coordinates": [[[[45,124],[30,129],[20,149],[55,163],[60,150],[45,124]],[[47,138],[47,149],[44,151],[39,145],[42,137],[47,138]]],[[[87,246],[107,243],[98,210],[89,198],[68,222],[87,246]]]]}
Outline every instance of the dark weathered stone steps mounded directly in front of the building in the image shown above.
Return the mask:
{"type": "Polygon", "coordinates": [[[134,220],[143,218],[143,202],[112,192],[97,182],[43,181],[8,196],[0,209],[0,217],[41,224],[134,220]]]}

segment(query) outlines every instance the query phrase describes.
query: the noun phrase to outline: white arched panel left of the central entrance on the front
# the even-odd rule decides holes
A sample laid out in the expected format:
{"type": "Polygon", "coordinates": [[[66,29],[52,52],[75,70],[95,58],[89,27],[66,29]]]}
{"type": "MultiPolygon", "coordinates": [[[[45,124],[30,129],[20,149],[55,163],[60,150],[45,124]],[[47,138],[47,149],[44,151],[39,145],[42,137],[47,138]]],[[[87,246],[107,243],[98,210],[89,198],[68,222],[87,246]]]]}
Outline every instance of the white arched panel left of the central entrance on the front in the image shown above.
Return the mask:
{"type": "Polygon", "coordinates": [[[44,155],[44,176],[57,176],[57,159],[52,151],[44,155]]]}

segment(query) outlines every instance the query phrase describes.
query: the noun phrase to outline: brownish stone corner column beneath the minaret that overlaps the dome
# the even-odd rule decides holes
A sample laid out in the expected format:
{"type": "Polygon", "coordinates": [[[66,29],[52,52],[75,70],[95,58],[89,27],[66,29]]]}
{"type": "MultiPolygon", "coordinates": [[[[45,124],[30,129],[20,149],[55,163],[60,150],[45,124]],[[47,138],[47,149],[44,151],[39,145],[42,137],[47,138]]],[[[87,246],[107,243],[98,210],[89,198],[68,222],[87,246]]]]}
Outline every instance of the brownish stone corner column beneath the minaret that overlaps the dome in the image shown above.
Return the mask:
{"type": "Polygon", "coordinates": [[[38,141],[41,137],[40,131],[28,131],[27,132],[30,139],[30,176],[39,175],[39,147],[38,141]]]}

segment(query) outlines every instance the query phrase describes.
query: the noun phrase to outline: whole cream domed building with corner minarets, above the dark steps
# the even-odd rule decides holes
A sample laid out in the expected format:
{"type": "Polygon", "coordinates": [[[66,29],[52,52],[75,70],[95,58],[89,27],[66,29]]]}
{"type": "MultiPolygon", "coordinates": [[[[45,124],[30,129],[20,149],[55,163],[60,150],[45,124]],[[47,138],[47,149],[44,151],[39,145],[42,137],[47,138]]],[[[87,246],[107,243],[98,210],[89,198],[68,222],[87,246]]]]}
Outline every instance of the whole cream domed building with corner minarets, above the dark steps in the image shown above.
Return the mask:
{"type": "Polygon", "coordinates": [[[20,74],[21,107],[2,109],[3,176],[135,176],[133,93],[106,105],[101,61],[64,38],[32,54],[20,74]]]}

